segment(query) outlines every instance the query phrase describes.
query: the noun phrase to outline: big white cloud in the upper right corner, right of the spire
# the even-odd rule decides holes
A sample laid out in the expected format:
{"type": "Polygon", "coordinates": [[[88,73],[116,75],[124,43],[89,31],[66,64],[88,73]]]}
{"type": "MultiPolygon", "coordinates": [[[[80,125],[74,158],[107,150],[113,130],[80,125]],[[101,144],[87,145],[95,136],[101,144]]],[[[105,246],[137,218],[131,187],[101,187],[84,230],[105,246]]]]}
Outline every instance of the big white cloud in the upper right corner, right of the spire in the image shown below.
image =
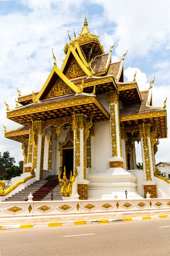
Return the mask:
{"type": "MultiPolygon", "coordinates": [[[[164,0],[92,0],[104,8],[105,20],[114,22],[109,35],[116,41],[116,54],[121,57],[129,49],[126,58],[147,55],[150,50],[170,45],[170,1],[164,0]],[[166,17],[166,18],[165,18],[166,17]]],[[[105,36],[107,46],[107,37],[105,36]]]]}

